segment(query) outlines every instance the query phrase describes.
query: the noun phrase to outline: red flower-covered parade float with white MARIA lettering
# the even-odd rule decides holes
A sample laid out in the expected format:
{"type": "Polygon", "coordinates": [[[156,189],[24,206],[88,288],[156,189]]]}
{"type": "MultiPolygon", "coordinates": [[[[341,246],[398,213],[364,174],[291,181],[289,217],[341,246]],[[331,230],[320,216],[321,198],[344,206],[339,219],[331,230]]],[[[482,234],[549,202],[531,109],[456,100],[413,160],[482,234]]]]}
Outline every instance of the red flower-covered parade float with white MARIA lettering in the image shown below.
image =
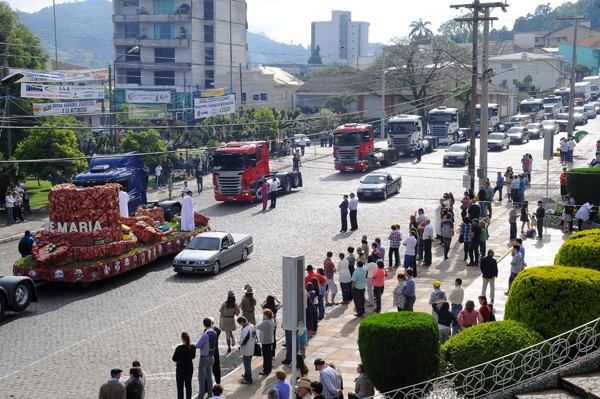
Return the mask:
{"type": "Polygon", "coordinates": [[[68,283],[99,281],[177,253],[210,230],[209,219],[197,212],[194,231],[181,231],[178,218],[165,221],[161,207],[121,217],[119,189],[115,183],[54,186],[48,195],[49,221],[35,237],[32,255],[15,262],[13,274],[68,283]]]}

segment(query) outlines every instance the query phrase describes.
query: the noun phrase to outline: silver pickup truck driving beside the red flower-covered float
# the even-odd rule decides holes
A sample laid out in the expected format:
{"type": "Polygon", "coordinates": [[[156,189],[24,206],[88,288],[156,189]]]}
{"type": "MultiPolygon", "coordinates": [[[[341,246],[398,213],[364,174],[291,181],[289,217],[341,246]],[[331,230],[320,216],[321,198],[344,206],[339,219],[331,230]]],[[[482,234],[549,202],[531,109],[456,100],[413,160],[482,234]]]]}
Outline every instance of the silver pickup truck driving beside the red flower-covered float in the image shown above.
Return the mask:
{"type": "Polygon", "coordinates": [[[173,271],[217,274],[223,267],[248,259],[253,249],[252,236],[249,234],[225,231],[201,233],[175,256],[173,271]]]}

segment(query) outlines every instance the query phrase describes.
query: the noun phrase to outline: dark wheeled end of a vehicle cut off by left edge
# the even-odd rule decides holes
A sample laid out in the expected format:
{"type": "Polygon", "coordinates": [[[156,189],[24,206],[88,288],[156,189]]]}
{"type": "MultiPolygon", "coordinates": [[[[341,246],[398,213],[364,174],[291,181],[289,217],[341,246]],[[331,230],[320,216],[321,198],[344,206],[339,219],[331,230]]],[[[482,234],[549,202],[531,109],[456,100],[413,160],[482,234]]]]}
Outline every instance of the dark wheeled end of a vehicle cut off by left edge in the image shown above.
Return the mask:
{"type": "Polygon", "coordinates": [[[0,276],[0,321],[7,310],[22,312],[37,302],[35,283],[24,276],[0,276]]]}

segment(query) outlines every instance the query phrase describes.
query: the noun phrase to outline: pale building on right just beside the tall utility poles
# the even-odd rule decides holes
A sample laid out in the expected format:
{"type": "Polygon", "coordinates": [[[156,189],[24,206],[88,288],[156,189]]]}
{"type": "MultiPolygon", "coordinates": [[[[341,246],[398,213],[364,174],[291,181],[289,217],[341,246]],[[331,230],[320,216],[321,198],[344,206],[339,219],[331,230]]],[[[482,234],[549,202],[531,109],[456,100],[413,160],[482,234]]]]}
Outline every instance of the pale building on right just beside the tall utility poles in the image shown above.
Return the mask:
{"type": "Polygon", "coordinates": [[[561,57],[527,51],[489,59],[489,67],[495,72],[492,84],[511,90],[516,90],[516,85],[527,75],[533,78],[532,85],[539,87],[540,91],[563,87],[570,65],[561,57]]]}

